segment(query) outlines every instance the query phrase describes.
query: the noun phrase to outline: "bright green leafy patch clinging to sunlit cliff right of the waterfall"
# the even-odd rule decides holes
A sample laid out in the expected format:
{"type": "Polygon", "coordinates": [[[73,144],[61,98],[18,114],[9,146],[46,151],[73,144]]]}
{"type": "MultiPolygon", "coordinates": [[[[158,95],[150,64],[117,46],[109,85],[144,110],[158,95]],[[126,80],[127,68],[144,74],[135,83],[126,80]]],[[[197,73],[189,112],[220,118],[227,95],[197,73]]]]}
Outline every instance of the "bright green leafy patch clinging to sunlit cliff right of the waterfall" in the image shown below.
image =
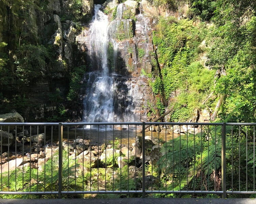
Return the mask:
{"type": "Polygon", "coordinates": [[[166,99],[178,87],[182,86],[183,70],[199,53],[198,46],[205,36],[205,29],[194,27],[192,21],[174,18],[160,18],[157,30],[153,33],[153,43],[157,46],[159,63],[165,66],[161,69],[162,78],[156,78],[152,83],[154,94],[161,94],[164,89],[166,99]]]}

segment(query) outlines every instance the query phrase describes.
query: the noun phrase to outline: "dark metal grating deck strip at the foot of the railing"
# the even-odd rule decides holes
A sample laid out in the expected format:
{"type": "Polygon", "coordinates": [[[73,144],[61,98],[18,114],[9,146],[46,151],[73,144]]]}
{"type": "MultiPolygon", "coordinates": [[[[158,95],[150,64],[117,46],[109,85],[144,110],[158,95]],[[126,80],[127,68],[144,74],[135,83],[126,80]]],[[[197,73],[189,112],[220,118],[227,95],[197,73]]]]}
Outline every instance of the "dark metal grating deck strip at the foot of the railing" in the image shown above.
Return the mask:
{"type": "Polygon", "coordinates": [[[256,199],[118,198],[118,199],[0,199],[0,204],[256,204],[256,199]]]}

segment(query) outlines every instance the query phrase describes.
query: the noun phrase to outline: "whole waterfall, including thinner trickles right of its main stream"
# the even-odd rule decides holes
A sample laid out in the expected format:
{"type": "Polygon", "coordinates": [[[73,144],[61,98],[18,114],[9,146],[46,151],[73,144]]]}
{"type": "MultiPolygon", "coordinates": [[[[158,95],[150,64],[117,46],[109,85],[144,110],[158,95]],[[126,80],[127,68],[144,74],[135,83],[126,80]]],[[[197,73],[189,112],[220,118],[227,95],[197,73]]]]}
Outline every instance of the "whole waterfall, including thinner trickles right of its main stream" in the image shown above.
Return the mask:
{"type": "Polygon", "coordinates": [[[108,16],[100,8],[100,4],[95,5],[86,43],[92,71],[87,72],[84,78],[84,121],[134,122],[137,121],[133,112],[138,86],[134,86],[129,78],[118,75],[113,70],[118,68],[118,63],[122,60],[118,55],[120,48],[116,35],[120,32],[124,36],[128,35],[126,33],[129,31],[129,20],[122,19],[123,4],[118,5],[117,19],[110,24],[108,16]],[[113,49],[112,54],[108,54],[110,48],[113,49]],[[108,64],[110,56],[113,57],[111,65],[108,64]]]}

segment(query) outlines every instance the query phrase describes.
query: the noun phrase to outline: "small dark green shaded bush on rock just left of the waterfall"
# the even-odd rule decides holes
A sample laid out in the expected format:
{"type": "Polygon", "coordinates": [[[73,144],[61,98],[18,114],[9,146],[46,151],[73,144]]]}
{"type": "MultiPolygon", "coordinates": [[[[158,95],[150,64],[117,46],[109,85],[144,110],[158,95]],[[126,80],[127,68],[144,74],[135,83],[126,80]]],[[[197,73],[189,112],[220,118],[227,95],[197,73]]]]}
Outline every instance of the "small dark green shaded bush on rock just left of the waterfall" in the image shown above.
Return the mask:
{"type": "Polygon", "coordinates": [[[70,73],[70,82],[69,82],[69,93],[67,99],[72,101],[77,97],[78,92],[80,91],[81,84],[80,82],[83,79],[83,75],[85,73],[86,67],[81,65],[79,67],[74,67],[70,73]]]}

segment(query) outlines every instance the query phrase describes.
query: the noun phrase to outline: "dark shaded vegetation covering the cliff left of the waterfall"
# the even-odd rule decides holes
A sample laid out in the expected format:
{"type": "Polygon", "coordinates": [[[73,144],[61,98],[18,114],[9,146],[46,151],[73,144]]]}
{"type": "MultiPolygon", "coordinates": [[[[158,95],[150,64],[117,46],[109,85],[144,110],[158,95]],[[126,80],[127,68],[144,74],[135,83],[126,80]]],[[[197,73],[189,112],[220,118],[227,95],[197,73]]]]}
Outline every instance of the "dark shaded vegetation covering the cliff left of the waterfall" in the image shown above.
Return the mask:
{"type": "MultiPolygon", "coordinates": [[[[63,56],[62,37],[52,36],[58,29],[58,22],[52,18],[57,14],[62,23],[72,19],[72,32],[79,34],[81,21],[88,22],[90,14],[82,1],[71,0],[69,3],[58,5],[57,2],[55,5],[45,0],[1,1],[0,114],[15,109],[32,121],[35,118],[32,116],[33,110],[42,108],[44,103],[68,109],[68,101],[71,98],[77,100],[78,95],[74,94],[79,85],[74,85],[74,81],[81,81],[81,67],[85,66],[79,61],[75,43],[66,40],[65,43],[70,44],[73,50],[73,56],[70,56],[71,60],[63,56]],[[75,79],[71,79],[71,75],[75,79]]],[[[60,112],[56,108],[53,115],[46,115],[44,120],[70,118],[63,118],[60,112]]]]}

